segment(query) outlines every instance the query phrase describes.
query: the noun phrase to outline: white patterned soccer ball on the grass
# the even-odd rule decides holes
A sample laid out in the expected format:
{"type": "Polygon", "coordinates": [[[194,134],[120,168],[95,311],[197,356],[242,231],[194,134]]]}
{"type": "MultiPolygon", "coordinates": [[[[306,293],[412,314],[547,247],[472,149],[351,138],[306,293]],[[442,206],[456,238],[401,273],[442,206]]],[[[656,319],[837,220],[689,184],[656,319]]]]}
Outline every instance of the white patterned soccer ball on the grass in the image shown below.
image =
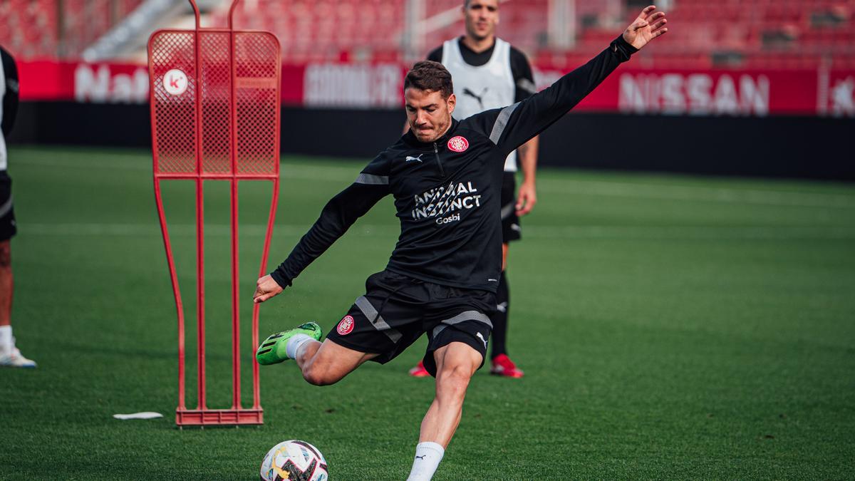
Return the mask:
{"type": "Polygon", "coordinates": [[[262,481],[327,481],[327,460],[305,441],[280,442],[262,462],[262,481]]]}

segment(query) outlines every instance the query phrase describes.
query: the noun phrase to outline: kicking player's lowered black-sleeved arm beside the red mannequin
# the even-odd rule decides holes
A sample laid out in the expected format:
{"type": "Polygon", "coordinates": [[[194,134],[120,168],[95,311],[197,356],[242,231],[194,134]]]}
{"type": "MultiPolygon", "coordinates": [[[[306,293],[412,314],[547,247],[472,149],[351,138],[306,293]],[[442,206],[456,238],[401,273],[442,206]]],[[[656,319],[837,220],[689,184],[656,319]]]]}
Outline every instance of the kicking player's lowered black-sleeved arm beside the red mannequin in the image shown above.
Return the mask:
{"type": "Polygon", "coordinates": [[[270,299],[291,285],[309,264],[333,245],[347,229],[389,193],[388,177],[360,174],[351,187],[330,199],[309,232],[279,267],[258,279],[253,302],[270,299]]]}

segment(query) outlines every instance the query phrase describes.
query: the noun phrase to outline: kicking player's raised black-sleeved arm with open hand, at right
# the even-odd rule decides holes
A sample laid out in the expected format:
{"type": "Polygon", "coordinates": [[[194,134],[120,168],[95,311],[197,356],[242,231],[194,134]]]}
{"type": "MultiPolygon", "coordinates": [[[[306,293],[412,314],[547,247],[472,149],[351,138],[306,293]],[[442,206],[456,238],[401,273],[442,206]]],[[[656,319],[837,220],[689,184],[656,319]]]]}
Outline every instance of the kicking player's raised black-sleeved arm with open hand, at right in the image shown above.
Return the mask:
{"type": "MultiPolygon", "coordinates": [[[[580,68],[564,75],[543,92],[501,110],[489,110],[476,122],[503,151],[512,151],[543,132],[581,102],[621,62],[668,32],[665,14],[649,6],[611,45],[580,68]]],[[[474,119],[475,120],[475,119],[474,119]]]]}

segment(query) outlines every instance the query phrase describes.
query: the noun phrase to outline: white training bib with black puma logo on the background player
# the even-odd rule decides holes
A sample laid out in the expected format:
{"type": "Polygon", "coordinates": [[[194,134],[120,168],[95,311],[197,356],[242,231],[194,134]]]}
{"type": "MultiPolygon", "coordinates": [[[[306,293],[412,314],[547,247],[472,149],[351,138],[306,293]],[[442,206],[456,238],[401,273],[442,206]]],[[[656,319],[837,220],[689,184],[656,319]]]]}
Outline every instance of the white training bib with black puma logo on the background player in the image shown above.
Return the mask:
{"type": "MultiPolygon", "coordinates": [[[[490,61],[474,67],[463,60],[457,42],[451,39],[442,45],[442,64],[451,73],[457,96],[454,118],[463,120],[484,110],[514,104],[516,84],[510,70],[510,44],[497,38],[490,61]]],[[[505,160],[504,171],[516,172],[516,151],[510,152],[505,160]]]]}

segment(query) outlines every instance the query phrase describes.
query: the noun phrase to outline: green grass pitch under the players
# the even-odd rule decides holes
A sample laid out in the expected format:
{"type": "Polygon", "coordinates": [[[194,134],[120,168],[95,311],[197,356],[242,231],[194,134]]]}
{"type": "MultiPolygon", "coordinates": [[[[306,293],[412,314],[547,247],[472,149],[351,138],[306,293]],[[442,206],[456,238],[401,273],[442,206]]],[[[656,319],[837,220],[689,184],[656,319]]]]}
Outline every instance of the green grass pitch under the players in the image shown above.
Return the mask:
{"type": "MultiPolygon", "coordinates": [[[[270,268],[362,164],[283,159],[270,268]]],[[[13,147],[9,173],[13,324],[38,369],[0,370],[0,478],[255,479],[292,438],[321,448],[333,480],[406,477],[433,395],[406,376],[423,341],[325,388],[262,368],[261,428],[179,431],[150,153],[13,147]],[[165,418],[112,418],[139,411],[165,418]]],[[[855,187],[553,169],[539,187],[510,252],[526,377],[475,375],[437,479],[855,478],[855,187]]],[[[226,407],[227,190],[206,188],[209,405],[226,407]]],[[[192,189],[164,195],[192,322],[192,189]]],[[[241,184],[247,301],[269,195],[241,184]]],[[[393,214],[385,199],[263,305],[261,335],[330,329],[384,267],[393,214]]],[[[192,329],[187,342],[193,399],[192,329]]],[[[244,344],[250,359],[248,331],[244,344]]]]}

